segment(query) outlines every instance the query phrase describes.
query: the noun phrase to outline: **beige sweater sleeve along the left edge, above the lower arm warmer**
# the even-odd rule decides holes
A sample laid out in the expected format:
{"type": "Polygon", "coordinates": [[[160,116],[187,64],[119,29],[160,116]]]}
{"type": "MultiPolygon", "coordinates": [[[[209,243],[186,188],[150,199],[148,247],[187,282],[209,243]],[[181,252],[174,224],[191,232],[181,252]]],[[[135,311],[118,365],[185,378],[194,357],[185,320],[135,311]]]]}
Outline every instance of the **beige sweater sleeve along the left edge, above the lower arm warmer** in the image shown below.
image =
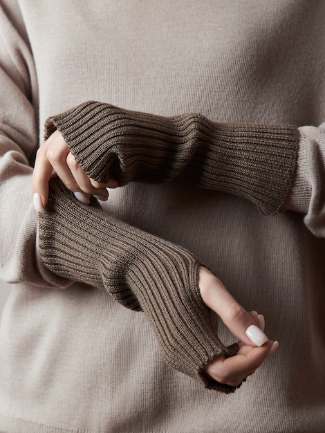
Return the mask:
{"type": "MultiPolygon", "coordinates": [[[[37,262],[37,214],[30,179],[38,144],[37,77],[15,0],[0,6],[0,275],[7,282],[52,285],[37,262]]],[[[66,282],[62,282],[66,284],[66,282]]]]}

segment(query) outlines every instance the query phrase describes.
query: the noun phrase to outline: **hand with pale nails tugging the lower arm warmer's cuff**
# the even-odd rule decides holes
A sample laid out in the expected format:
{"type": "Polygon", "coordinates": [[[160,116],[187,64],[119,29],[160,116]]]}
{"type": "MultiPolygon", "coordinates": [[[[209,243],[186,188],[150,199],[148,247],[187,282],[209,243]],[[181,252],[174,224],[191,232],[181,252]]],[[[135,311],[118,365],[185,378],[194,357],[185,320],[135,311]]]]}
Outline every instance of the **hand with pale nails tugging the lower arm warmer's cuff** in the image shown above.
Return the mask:
{"type": "Polygon", "coordinates": [[[37,151],[32,175],[32,192],[37,210],[42,210],[48,201],[48,181],[53,176],[59,176],[68,190],[84,204],[89,204],[91,195],[99,200],[107,200],[109,193],[106,188],[118,186],[114,178],[110,178],[107,184],[89,178],[59,131],[55,131],[37,151]]]}

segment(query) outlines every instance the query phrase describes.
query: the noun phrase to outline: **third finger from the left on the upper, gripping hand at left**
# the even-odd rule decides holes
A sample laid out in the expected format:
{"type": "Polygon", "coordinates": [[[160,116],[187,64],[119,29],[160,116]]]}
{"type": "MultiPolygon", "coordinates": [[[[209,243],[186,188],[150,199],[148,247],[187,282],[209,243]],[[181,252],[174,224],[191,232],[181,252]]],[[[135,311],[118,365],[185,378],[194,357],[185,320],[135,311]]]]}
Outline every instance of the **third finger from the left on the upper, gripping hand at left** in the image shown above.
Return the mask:
{"type": "Polygon", "coordinates": [[[109,193],[103,184],[97,183],[97,186],[93,186],[91,179],[87,176],[86,172],[80,167],[80,165],[75,160],[75,157],[71,152],[66,156],[66,165],[70,170],[75,183],[82,192],[89,195],[95,195],[97,199],[107,200],[109,193]]]}

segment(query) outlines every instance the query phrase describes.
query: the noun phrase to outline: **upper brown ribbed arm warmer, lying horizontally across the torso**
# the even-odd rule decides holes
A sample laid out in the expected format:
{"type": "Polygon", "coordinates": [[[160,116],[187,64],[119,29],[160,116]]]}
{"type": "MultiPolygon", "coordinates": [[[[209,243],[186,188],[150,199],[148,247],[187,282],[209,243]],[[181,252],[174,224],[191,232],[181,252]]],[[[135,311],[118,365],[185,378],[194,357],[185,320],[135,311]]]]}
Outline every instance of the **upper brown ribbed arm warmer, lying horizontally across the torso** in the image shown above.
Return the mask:
{"type": "Polygon", "coordinates": [[[295,169],[298,132],[290,126],[215,123],[196,113],[166,118],[85,102],[49,118],[82,169],[106,183],[194,185],[236,194],[275,214],[295,169]]]}

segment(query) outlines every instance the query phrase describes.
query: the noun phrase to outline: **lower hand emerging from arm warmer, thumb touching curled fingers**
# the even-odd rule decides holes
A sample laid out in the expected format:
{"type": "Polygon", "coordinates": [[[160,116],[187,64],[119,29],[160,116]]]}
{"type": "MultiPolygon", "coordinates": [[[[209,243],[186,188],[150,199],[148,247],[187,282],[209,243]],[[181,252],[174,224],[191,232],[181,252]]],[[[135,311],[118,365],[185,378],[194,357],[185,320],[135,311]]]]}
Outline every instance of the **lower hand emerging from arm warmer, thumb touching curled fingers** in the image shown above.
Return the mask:
{"type": "Polygon", "coordinates": [[[277,350],[279,343],[268,340],[263,333],[263,316],[245,311],[207,268],[199,268],[198,287],[203,302],[240,340],[235,356],[216,358],[206,366],[205,372],[219,383],[238,386],[277,350]]]}

